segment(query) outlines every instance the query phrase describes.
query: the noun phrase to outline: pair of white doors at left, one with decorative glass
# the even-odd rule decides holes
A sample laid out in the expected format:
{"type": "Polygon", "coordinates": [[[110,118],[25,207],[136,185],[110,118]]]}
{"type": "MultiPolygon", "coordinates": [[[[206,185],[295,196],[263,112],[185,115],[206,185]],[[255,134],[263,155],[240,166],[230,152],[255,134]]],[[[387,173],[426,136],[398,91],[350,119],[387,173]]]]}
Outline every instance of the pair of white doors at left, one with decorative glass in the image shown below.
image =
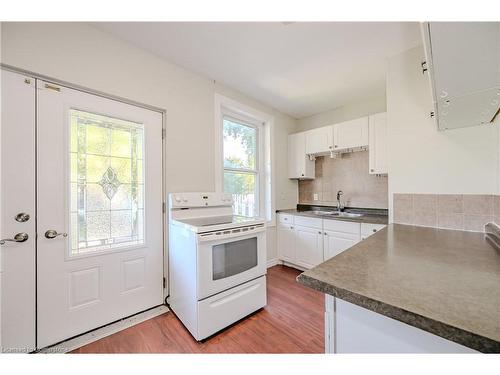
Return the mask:
{"type": "Polygon", "coordinates": [[[163,304],[162,129],[160,112],[2,71],[4,351],[163,304]]]}

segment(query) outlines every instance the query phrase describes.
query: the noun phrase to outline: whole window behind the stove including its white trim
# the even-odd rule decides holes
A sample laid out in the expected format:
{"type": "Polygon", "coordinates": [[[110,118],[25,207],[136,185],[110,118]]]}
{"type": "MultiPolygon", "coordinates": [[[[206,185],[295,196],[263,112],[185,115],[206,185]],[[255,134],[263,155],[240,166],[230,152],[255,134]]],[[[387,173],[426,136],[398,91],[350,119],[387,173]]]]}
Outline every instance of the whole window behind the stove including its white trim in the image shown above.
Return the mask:
{"type": "Polygon", "coordinates": [[[235,215],[273,224],[274,118],[215,94],[216,190],[231,193],[235,215]]]}

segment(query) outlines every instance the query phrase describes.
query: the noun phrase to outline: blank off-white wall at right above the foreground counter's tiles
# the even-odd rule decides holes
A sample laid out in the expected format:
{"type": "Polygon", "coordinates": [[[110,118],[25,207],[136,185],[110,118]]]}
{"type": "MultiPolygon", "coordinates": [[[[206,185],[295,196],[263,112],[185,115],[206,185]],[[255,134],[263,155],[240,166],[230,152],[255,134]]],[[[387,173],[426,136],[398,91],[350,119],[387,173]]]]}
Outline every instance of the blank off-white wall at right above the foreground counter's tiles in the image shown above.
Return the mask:
{"type": "Polygon", "coordinates": [[[389,207],[393,193],[497,194],[498,125],[438,131],[423,59],[416,47],[388,63],[389,207]]]}

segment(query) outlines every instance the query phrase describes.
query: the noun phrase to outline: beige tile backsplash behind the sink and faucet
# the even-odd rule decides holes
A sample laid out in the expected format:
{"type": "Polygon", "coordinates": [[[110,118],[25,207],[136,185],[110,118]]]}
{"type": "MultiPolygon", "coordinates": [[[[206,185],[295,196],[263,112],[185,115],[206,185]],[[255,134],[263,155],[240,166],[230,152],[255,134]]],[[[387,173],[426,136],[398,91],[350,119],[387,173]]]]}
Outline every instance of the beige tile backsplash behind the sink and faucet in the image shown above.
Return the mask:
{"type": "Polygon", "coordinates": [[[368,173],[368,151],[353,152],[342,158],[316,158],[316,178],[299,181],[299,203],[335,206],[337,191],[348,207],[388,208],[387,176],[368,173]],[[318,200],[314,200],[317,194],[318,200]]]}

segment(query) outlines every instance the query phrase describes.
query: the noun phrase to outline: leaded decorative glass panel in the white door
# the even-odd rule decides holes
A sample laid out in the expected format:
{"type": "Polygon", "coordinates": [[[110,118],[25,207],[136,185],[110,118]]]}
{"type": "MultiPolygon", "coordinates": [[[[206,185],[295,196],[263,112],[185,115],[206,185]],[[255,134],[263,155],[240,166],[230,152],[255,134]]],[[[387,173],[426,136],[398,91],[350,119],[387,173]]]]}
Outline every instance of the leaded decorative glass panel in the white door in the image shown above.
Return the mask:
{"type": "Polygon", "coordinates": [[[71,255],[144,242],[144,127],[70,110],[71,255]]]}

